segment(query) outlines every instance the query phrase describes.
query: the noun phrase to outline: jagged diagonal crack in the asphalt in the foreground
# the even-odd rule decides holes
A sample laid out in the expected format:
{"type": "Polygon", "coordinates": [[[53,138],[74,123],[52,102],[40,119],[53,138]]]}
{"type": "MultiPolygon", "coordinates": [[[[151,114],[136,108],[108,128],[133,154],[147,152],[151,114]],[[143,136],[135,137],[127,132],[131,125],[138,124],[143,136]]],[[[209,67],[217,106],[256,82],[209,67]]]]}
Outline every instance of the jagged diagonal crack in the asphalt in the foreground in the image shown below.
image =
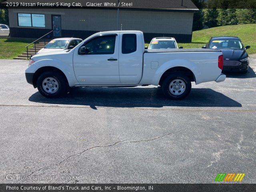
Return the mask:
{"type": "Polygon", "coordinates": [[[28,176],[31,176],[31,175],[34,174],[35,172],[38,172],[38,171],[40,171],[40,170],[42,170],[42,169],[46,169],[46,168],[53,167],[53,166],[58,166],[58,165],[62,164],[64,161],[68,160],[69,158],[71,158],[71,157],[73,157],[73,156],[80,156],[80,155],[83,154],[84,152],[86,152],[86,151],[88,151],[88,150],[92,150],[92,149],[94,149],[94,148],[112,147],[112,146],[114,146],[114,145],[116,145],[116,144],[120,144],[120,143],[122,143],[122,144],[127,144],[127,143],[148,142],[148,141],[152,141],[152,140],[156,140],[156,139],[159,139],[159,138],[163,138],[163,137],[165,137],[165,136],[169,136],[169,135],[172,135],[172,134],[177,134],[177,133],[179,133],[179,132],[181,132],[181,131],[184,131],[184,130],[187,130],[187,128],[186,128],[186,129],[179,130],[179,131],[177,131],[177,132],[172,132],[172,133],[168,133],[168,134],[163,134],[162,136],[154,137],[154,138],[148,139],[148,140],[138,140],[138,141],[125,142],[125,141],[128,140],[128,139],[126,139],[126,140],[123,140],[123,141],[115,142],[114,144],[110,144],[110,145],[94,146],[94,147],[88,148],[88,149],[86,149],[86,150],[83,150],[82,152],[79,152],[79,153],[70,155],[70,156],[68,156],[67,158],[65,158],[64,160],[60,161],[60,162],[57,163],[57,164],[50,165],[50,166],[46,166],[46,167],[40,168],[40,169],[38,169],[38,170],[35,170],[35,171],[31,172],[28,176]]]}

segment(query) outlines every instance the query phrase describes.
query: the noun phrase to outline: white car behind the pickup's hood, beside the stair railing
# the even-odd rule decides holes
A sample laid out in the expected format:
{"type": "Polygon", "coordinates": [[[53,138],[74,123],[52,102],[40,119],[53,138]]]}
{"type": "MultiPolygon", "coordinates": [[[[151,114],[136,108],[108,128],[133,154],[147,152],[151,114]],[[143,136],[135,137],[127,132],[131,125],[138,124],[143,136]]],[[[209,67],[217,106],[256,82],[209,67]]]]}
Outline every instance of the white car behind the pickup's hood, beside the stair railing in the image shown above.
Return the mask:
{"type": "Polygon", "coordinates": [[[39,50],[37,54],[59,52],[62,50],[73,49],[75,46],[82,42],[79,38],[58,38],[51,40],[44,48],[39,50]]]}

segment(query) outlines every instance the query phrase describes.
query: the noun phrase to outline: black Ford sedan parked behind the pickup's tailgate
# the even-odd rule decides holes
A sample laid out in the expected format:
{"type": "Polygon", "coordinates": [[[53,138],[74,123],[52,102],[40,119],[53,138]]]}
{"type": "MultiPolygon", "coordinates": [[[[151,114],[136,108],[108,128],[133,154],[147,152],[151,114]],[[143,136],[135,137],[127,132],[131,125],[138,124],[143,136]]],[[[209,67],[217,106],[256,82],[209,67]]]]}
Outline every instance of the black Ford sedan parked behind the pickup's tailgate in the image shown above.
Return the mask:
{"type": "Polygon", "coordinates": [[[249,67],[249,56],[242,41],[238,37],[212,37],[202,48],[221,50],[224,56],[223,71],[246,73],[249,67]]]}

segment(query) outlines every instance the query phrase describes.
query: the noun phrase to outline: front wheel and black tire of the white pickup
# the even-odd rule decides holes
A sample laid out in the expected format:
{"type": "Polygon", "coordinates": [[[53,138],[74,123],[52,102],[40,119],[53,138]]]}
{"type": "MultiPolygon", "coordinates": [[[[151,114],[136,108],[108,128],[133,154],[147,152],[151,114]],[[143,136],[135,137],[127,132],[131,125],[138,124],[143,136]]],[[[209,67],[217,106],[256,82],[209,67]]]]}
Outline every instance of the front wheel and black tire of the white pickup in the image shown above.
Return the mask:
{"type": "Polygon", "coordinates": [[[65,77],[57,71],[43,72],[38,77],[36,84],[40,94],[47,98],[58,98],[68,92],[68,84],[65,77]]]}

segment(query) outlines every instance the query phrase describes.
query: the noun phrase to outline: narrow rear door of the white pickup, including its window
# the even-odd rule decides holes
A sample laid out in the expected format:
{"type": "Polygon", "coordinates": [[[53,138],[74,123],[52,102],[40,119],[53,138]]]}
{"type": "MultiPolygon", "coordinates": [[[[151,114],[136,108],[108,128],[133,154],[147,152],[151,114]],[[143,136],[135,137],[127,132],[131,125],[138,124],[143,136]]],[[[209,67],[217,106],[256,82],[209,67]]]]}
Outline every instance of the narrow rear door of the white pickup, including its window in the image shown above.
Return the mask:
{"type": "Polygon", "coordinates": [[[138,84],[142,76],[144,40],[141,33],[120,33],[119,75],[121,83],[138,84]],[[143,45],[142,45],[143,44],[143,45]]]}

